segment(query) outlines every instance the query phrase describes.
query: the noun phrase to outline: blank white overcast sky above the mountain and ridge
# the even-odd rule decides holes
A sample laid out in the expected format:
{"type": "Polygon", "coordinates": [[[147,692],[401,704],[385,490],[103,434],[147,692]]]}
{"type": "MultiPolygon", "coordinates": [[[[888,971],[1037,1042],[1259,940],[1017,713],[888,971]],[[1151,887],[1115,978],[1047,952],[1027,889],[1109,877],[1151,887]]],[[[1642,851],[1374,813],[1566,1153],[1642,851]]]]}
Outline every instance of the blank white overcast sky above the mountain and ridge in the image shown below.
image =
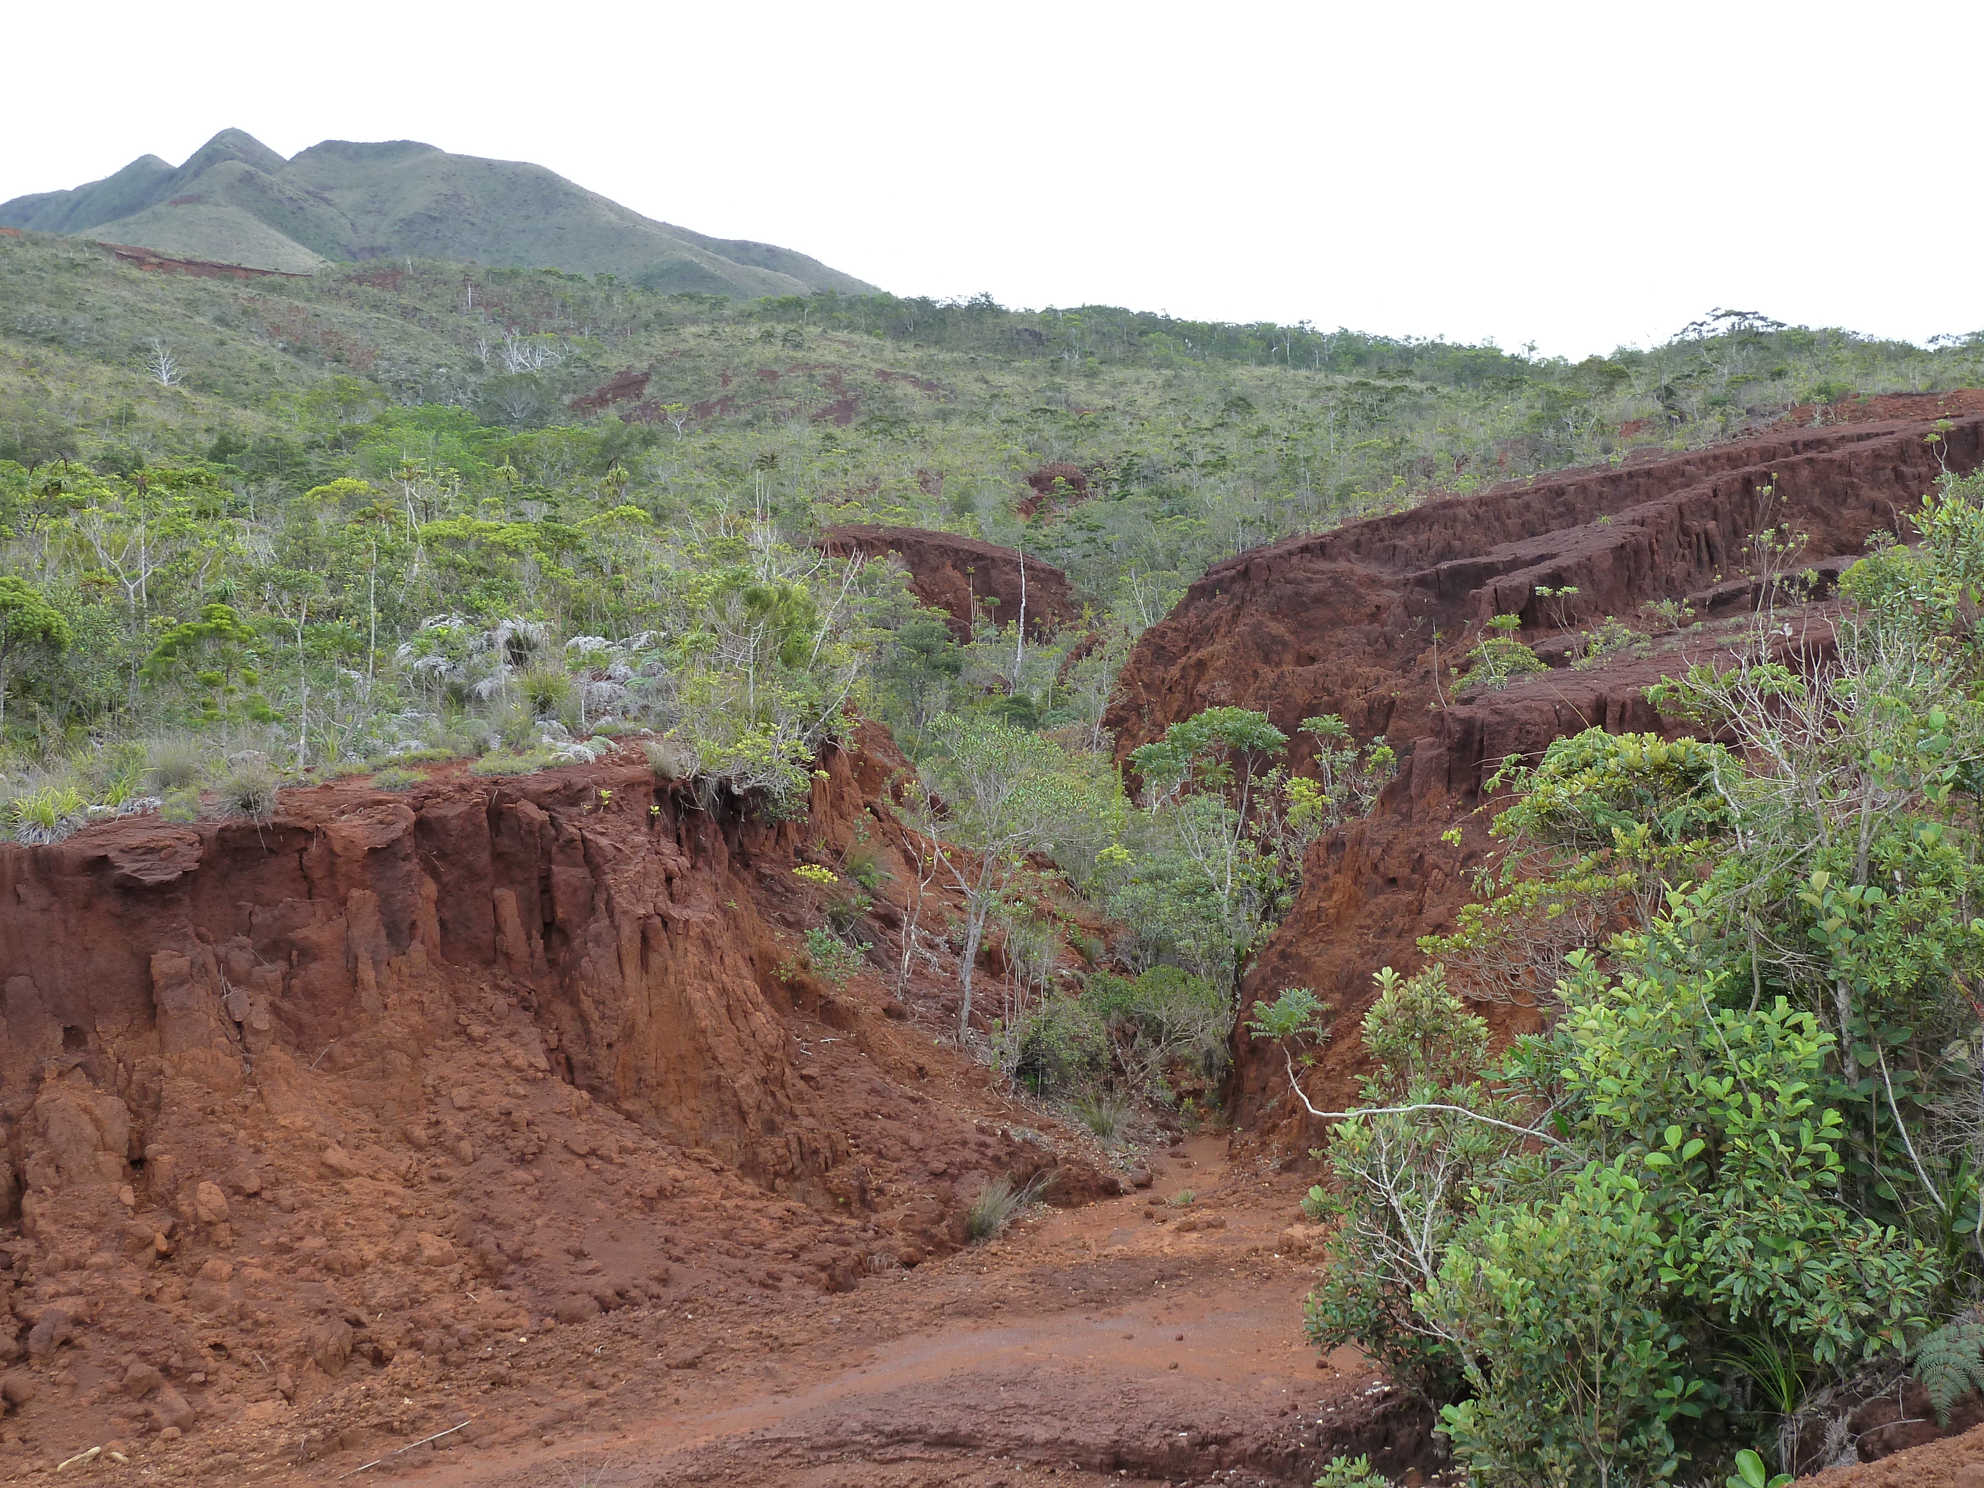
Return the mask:
{"type": "Polygon", "coordinates": [[[899,294],[1661,341],[1984,327],[1984,4],[10,6],[0,200],[425,139],[899,294]]]}

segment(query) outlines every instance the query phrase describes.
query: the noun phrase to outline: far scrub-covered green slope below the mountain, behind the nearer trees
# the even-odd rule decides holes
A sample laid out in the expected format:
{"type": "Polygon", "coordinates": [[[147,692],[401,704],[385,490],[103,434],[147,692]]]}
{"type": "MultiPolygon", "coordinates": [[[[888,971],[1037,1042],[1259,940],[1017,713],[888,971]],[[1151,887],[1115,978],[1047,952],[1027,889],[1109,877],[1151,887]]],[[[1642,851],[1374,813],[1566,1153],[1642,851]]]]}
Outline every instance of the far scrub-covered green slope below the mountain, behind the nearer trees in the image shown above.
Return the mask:
{"type": "Polygon", "coordinates": [[[1026,472],[1073,464],[1101,498],[1038,522],[1028,546],[1129,623],[1212,558],[1286,532],[1720,438],[1794,403],[1984,375],[1968,339],[1919,351],[1748,321],[1567,365],[1111,308],[736,304],[421,260],[192,280],[34,236],[0,240],[0,427],[75,431],[97,464],[220,454],[226,480],[296,492],[411,454],[486,488],[500,462],[387,433],[440,405],[530,480],[623,468],[657,514],[742,490],[796,530],[901,522],[1006,544],[1026,472]],[[147,371],[161,347],[173,385],[147,371]],[[617,397],[573,409],[623,373],[617,397]]]}

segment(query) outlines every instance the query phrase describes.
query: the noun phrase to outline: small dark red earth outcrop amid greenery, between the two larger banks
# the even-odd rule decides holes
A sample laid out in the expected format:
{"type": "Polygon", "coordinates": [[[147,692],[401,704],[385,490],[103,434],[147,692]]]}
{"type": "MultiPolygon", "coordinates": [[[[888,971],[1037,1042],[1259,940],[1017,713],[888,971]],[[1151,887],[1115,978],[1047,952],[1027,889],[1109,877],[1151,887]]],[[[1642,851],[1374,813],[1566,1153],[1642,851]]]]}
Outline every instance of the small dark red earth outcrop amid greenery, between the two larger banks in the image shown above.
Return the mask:
{"type": "Polygon", "coordinates": [[[1081,605],[1067,589],[1067,575],[1014,548],[927,528],[865,526],[827,528],[819,534],[819,548],[835,558],[895,554],[909,569],[911,591],[923,603],[950,615],[950,629],[958,641],[970,639],[972,619],[990,619],[998,625],[1016,621],[1022,599],[1030,635],[1050,637],[1081,619],[1081,605]]]}

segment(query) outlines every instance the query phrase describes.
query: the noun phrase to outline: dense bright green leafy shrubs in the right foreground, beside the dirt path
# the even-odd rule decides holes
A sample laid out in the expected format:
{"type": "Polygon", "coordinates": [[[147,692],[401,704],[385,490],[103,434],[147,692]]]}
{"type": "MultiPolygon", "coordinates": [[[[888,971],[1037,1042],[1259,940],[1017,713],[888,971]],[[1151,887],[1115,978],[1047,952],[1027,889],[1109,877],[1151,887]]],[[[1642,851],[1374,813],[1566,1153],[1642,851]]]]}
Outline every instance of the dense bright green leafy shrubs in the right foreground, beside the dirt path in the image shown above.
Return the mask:
{"type": "MultiPolygon", "coordinates": [[[[1921,1349],[1942,1411],[1978,1369],[1984,480],[1915,522],[1847,575],[1829,657],[1788,665],[1766,611],[1655,688],[1726,744],[1512,764],[1484,905],[1365,1020],[1309,1329],[1442,1405],[1480,1482],[1698,1480],[1746,1442],[1809,1470],[1821,1387],[1921,1349]],[[1450,982],[1548,1032],[1490,1059],[1450,982]]],[[[1254,1028],[1294,1075],[1323,1010],[1294,988],[1254,1028]]]]}

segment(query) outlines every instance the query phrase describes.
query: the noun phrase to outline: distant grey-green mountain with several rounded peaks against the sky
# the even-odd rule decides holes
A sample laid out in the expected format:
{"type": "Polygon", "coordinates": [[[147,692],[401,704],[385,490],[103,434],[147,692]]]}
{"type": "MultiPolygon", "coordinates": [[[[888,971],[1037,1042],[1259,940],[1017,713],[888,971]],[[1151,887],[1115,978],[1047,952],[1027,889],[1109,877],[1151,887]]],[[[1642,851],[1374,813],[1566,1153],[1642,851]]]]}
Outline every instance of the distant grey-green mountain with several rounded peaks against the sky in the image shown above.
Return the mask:
{"type": "Polygon", "coordinates": [[[615,274],[671,294],[875,288],[790,248],[655,222],[542,165],[413,139],[327,139],[286,161],[222,129],[179,169],[141,155],[103,181],[16,196],[0,204],[0,226],[288,274],[415,256],[615,274]]]}

